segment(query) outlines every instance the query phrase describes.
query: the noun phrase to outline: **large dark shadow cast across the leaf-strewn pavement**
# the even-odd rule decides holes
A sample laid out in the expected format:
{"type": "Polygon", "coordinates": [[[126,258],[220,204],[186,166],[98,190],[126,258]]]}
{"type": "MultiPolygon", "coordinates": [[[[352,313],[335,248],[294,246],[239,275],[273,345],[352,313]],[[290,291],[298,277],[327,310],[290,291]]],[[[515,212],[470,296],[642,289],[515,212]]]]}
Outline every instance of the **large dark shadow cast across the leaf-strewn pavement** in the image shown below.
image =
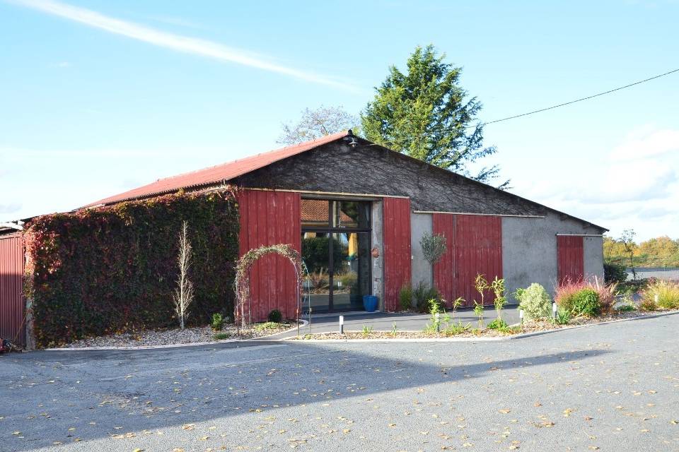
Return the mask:
{"type": "Polygon", "coordinates": [[[365,398],[608,353],[596,349],[464,364],[455,362],[453,353],[444,362],[431,355],[422,360],[431,347],[439,345],[422,345],[422,354],[414,356],[399,356],[386,347],[347,350],[273,342],[9,355],[0,358],[0,444],[2,450],[28,451],[54,441],[69,444],[76,438],[88,441],[250,411],[365,398]]]}

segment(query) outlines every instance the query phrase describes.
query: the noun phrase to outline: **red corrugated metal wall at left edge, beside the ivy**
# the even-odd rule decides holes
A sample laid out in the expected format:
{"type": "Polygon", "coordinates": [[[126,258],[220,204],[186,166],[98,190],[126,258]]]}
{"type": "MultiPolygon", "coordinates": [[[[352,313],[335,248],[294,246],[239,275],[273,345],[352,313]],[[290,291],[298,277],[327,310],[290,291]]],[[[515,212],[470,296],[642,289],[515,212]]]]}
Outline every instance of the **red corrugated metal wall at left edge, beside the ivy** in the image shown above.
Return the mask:
{"type": "Polygon", "coordinates": [[[23,335],[23,240],[0,236],[0,337],[25,345],[23,335]]]}

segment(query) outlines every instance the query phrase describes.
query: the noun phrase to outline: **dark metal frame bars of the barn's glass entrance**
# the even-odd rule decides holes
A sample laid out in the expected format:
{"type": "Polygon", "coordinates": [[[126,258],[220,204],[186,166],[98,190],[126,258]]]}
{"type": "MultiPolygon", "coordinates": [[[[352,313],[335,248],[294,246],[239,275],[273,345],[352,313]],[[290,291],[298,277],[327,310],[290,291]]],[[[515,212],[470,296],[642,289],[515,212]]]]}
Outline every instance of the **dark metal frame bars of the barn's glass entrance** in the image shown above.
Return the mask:
{"type": "MultiPolygon", "coordinates": [[[[340,312],[342,310],[337,310],[335,309],[334,306],[334,300],[333,300],[333,295],[335,292],[335,262],[334,262],[334,242],[335,242],[335,237],[334,234],[338,233],[364,233],[364,234],[369,234],[368,237],[370,239],[370,246],[369,248],[372,249],[373,247],[373,211],[372,211],[372,203],[375,201],[375,198],[357,198],[357,197],[332,197],[332,196],[303,196],[302,201],[305,199],[315,199],[317,201],[328,201],[327,203],[327,224],[328,226],[314,226],[314,227],[302,227],[301,231],[302,234],[305,232],[321,232],[324,234],[328,235],[328,241],[327,241],[327,252],[328,252],[328,268],[327,268],[327,275],[328,275],[328,285],[330,287],[330,293],[328,294],[328,309],[327,311],[322,311],[322,312],[340,312]],[[370,208],[368,208],[368,225],[370,227],[332,227],[332,208],[334,206],[334,201],[349,201],[349,202],[364,202],[364,203],[369,203],[370,208]]],[[[372,275],[372,262],[373,258],[372,256],[368,255],[368,280],[372,281],[373,280],[373,275],[372,275]]],[[[363,294],[363,295],[372,295],[373,292],[373,287],[372,284],[370,285],[370,294],[363,294]]]]}

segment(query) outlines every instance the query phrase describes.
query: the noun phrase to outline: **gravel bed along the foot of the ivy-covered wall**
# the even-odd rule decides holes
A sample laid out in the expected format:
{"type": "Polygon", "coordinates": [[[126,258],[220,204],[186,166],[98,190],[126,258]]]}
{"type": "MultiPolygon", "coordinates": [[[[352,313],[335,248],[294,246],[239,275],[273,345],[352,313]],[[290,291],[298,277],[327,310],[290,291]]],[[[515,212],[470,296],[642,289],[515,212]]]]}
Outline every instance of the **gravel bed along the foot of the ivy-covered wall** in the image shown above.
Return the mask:
{"type": "Polygon", "coordinates": [[[98,336],[76,340],[75,342],[61,345],[60,348],[83,348],[83,347],[144,347],[149,345],[175,345],[214,342],[216,333],[228,335],[220,340],[252,339],[265,335],[280,333],[294,326],[293,323],[279,323],[273,328],[257,328],[257,324],[245,331],[238,330],[235,325],[224,326],[220,331],[213,331],[209,326],[196,328],[145,330],[135,333],[120,333],[107,336],[98,336]]]}

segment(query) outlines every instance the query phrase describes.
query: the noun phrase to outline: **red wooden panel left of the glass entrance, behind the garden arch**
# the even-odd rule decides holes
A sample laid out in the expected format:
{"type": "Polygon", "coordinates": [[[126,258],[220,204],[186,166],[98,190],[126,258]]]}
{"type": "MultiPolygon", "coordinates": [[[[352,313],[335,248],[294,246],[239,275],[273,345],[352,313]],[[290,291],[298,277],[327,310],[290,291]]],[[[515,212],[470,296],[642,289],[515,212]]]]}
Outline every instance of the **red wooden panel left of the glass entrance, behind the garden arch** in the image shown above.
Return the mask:
{"type": "MultiPolygon", "coordinates": [[[[240,206],[240,256],[262,245],[291,244],[301,251],[300,194],[243,190],[240,206]]],[[[295,270],[283,256],[267,255],[250,270],[253,321],[265,321],[272,309],[294,319],[297,309],[295,270]]]]}

